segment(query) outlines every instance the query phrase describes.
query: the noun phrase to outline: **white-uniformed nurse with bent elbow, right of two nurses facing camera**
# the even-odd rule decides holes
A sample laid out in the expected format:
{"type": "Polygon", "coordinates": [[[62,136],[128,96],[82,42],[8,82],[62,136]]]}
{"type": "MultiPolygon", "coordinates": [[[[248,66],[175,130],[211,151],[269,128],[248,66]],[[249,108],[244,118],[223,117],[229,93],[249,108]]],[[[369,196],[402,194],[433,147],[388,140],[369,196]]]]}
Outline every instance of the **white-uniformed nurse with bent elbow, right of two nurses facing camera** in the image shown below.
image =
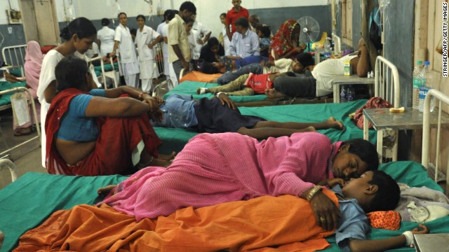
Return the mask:
{"type": "Polygon", "coordinates": [[[149,92],[152,90],[153,78],[159,76],[159,71],[154,60],[153,47],[163,40],[162,36],[151,27],[145,25],[145,16],[138,15],[136,18],[139,29],[135,35],[135,45],[138,48],[140,80],[142,90],[149,92]]]}

